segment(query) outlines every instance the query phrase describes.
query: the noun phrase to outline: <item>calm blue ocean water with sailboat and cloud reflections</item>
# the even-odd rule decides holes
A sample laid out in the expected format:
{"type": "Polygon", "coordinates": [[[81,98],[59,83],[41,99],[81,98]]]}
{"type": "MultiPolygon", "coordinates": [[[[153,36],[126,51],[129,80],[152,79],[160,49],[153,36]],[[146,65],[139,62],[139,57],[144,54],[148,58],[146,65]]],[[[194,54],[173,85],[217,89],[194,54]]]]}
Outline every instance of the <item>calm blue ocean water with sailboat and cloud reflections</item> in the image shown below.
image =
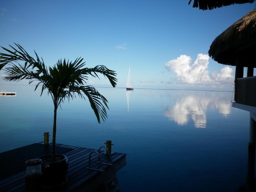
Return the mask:
{"type": "MultiPolygon", "coordinates": [[[[52,134],[50,97],[33,86],[1,86],[0,152],[52,134]]],[[[97,123],[88,101],[64,103],[57,143],[126,153],[122,191],[236,191],[246,183],[249,112],[232,108],[232,92],[98,88],[109,101],[97,123]]],[[[50,137],[51,139],[51,137],[50,137]]]]}

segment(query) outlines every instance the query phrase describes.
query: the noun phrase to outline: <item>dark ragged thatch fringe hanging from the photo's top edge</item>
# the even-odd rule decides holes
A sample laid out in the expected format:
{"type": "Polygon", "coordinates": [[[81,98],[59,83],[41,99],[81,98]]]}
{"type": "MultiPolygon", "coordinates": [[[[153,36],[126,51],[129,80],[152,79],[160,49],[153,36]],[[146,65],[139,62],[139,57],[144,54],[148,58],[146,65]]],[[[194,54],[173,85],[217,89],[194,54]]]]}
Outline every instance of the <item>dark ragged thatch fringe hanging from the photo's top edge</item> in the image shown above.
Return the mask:
{"type": "MultiPolygon", "coordinates": [[[[191,3],[192,0],[189,0],[188,4],[191,3]]],[[[211,10],[217,7],[223,7],[234,4],[243,4],[243,3],[253,3],[255,0],[194,0],[193,7],[198,7],[202,10],[211,10]]]]}

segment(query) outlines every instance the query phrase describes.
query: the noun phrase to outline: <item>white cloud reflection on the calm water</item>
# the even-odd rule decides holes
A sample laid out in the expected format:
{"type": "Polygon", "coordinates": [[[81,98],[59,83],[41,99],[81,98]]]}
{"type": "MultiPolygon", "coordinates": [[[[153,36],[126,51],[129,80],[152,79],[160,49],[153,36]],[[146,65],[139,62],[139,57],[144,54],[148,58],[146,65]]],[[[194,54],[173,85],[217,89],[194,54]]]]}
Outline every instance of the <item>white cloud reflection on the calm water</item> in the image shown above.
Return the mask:
{"type": "MultiPolygon", "coordinates": [[[[186,92],[188,93],[188,92],[186,92]]],[[[223,117],[227,117],[231,112],[228,92],[197,92],[191,91],[189,95],[179,92],[175,95],[175,104],[167,106],[164,116],[179,125],[185,125],[190,118],[194,121],[196,128],[205,128],[207,123],[207,108],[212,111],[218,110],[223,117]]]]}

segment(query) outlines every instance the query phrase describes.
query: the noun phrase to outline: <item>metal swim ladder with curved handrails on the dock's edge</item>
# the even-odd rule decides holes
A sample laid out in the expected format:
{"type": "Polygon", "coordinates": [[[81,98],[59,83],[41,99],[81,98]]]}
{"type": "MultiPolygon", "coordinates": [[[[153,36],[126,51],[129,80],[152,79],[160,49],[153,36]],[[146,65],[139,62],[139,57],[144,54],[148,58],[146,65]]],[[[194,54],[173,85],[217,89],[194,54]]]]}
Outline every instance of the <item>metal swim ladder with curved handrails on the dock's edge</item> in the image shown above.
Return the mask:
{"type": "Polygon", "coordinates": [[[115,168],[114,168],[114,164],[113,164],[113,160],[112,160],[112,157],[111,157],[111,154],[108,150],[108,148],[106,148],[105,146],[100,146],[100,148],[98,149],[98,151],[91,151],[90,154],[89,154],[89,166],[87,167],[87,169],[91,169],[91,170],[96,170],[96,171],[100,171],[101,172],[101,175],[102,175],[102,178],[103,178],[103,183],[104,183],[104,188],[105,188],[105,191],[106,192],[116,192],[116,191],[120,191],[120,188],[119,188],[119,185],[118,185],[118,181],[117,181],[117,177],[116,177],[116,172],[115,172],[115,168]],[[102,162],[102,159],[101,159],[101,156],[100,156],[100,149],[101,148],[105,148],[106,149],[106,152],[110,158],[110,163],[103,163],[102,162]],[[95,168],[91,168],[91,154],[92,153],[96,153],[98,155],[98,162],[99,164],[101,164],[101,167],[102,169],[95,169],[95,168]],[[111,167],[111,172],[112,172],[112,176],[109,180],[106,180],[105,179],[105,168],[104,168],[104,165],[110,165],[111,167]],[[114,182],[114,188],[110,190],[110,186],[111,184],[114,182]]]}

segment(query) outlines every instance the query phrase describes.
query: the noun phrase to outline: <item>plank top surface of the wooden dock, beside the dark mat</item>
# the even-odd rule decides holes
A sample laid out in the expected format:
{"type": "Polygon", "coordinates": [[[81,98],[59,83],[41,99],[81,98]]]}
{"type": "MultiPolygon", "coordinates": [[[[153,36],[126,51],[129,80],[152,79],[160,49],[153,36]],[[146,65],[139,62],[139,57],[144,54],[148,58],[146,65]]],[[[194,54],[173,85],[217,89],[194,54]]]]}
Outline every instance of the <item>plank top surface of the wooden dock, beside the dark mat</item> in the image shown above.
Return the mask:
{"type": "MultiPolygon", "coordinates": [[[[43,144],[43,142],[40,142],[43,144]]],[[[49,144],[51,145],[51,144],[49,144]]],[[[88,179],[91,179],[95,175],[99,175],[100,172],[95,170],[87,169],[89,163],[89,154],[93,149],[76,147],[71,145],[56,144],[59,147],[72,148],[72,151],[65,153],[69,160],[69,168],[67,173],[68,182],[66,183],[65,191],[74,191],[79,188],[81,185],[86,183],[88,179]]],[[[102,154],[102,162],[108,163],[110,161],[108,155],[102,154]]],[[[125,157],[126,154],[114,153],[112,154],[112,159],[115,164],[120,158],[125,157]]],[[[101,168],[101,165],[97,163],[98,155],[93,153],[91,155],[91,167],[101,168]]],[[[104,165],[104,168],[109,167],[109,165],[104,165]]],[[[0,180],[0,191],[24,191],[25,179],[24,176],[26,171],[22,171],[15,175],[12,175],[8,178],[0,180]]]]}

